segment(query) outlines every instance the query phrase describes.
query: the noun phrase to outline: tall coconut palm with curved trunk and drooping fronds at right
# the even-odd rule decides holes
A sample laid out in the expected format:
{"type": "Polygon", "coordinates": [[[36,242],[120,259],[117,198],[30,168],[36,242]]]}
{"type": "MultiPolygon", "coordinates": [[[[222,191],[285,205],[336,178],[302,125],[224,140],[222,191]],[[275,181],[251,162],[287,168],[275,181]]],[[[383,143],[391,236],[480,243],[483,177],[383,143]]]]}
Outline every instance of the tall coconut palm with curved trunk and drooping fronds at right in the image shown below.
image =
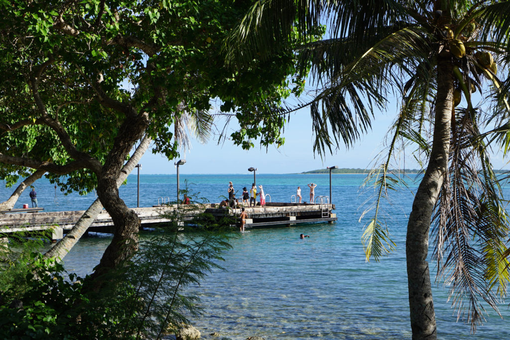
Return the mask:
{"type": "Polygon", "coordinates": [[[509,223],[488,150],[498,145],[506,153],[510,144],[510,81],[497,70],[510,62],[507,13],[508,1],[267,0],[224,45],[228,61],[246,63],[327,24],[328,39],[297,50],[301,67],[311,65],[314,75],[307,104],[319,154],[341,142],[351,146],[371,127],[373,110],[400,97],[363,240],[367,260],[393,248],[379,201],[398,183],[388,170],[397,145],[417,145],[427,162],[406,234],[413,339],[436,338],[431,222],[438,279],[449,284],[459,315],[467,306],[473,330],[483,320],[482,300],[497,309],[496,295],[506,293],[509,223]]]}

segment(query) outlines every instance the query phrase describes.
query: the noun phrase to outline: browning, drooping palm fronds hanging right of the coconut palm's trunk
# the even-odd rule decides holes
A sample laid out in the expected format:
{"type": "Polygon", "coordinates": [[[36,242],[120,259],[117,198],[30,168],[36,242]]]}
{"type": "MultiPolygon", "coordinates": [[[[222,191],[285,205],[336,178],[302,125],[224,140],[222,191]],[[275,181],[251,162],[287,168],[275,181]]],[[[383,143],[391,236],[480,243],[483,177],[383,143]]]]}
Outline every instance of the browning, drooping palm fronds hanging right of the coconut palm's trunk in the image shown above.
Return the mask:
{"type": "Polygon", "coordinates": [[[437,261],[437,280],[449,286],[457,319],[470,322],[475,331],[486,311],[481,302],[497,311],[493,287],[506,291],[508,273],[502,270],[502,253],[509,229],[498,180],[487,148],[480,144],[472,111],[456,115],[448,176],[433,217],[436,246],[432,255],[437,261]]]}

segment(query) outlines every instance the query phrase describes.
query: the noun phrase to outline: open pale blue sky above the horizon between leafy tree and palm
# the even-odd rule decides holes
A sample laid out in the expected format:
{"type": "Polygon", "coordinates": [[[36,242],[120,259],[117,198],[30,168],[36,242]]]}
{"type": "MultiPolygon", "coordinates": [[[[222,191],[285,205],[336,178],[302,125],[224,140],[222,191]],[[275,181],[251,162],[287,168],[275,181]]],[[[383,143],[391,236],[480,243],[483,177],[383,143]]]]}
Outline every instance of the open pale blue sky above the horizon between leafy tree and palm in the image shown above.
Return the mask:
{"type": "MultiPolygon", "coordinates": [[[[313,152],[312,120],[309,109],[301,109],[291,115],[290,123],[285,127],[285,144],[279,148],[257,146],[251,150],[243,150],[226,140],[218,145],[218,137],[213,137],[207,144],[192,141],[192,149],[182,154],[186,164],[180,166],[180,173],[218,174],[218,173],[249,173],[248,168],[257,168],[257,173],[297,173],[327,166],[339,168],[369,168],[374,157],[381,149],[381,142],[393,121],[392,114],[376,114],[374,126],[352,148],[347,150],[344,145],[327,153],[324,159],[313,152]]],[[[218,124],[222,126],[222,124],[218,124]]],[[[234,131],[236,126],[231,126],[234,131]]],[[[229,133],[230,134],[230,133],[229,133]]],[[[140,160],[141,174],[173,174],[176,173],[174,162],[164,156],[147,151],[140,160]]],[[[411,162],[411,161],[410,161],[411,162]]],[[[416,168],[415,162],[406,163],[405,168],[416,168]]]]}

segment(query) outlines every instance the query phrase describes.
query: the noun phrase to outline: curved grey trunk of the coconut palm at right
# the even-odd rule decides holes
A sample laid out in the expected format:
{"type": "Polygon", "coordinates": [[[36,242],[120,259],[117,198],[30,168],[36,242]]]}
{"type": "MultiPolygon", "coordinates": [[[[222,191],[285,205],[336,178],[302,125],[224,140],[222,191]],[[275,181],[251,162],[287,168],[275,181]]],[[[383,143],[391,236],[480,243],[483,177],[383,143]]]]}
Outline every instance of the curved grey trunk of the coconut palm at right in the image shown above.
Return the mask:
{"type": "Polygon", "coordinates": [[[438,57],[437,79],[432,150],[413,202],[405,241],[413,340],[437,338],[427,254],[430,220],[448,168],[454,87],[450,56],[438,57]]]}

